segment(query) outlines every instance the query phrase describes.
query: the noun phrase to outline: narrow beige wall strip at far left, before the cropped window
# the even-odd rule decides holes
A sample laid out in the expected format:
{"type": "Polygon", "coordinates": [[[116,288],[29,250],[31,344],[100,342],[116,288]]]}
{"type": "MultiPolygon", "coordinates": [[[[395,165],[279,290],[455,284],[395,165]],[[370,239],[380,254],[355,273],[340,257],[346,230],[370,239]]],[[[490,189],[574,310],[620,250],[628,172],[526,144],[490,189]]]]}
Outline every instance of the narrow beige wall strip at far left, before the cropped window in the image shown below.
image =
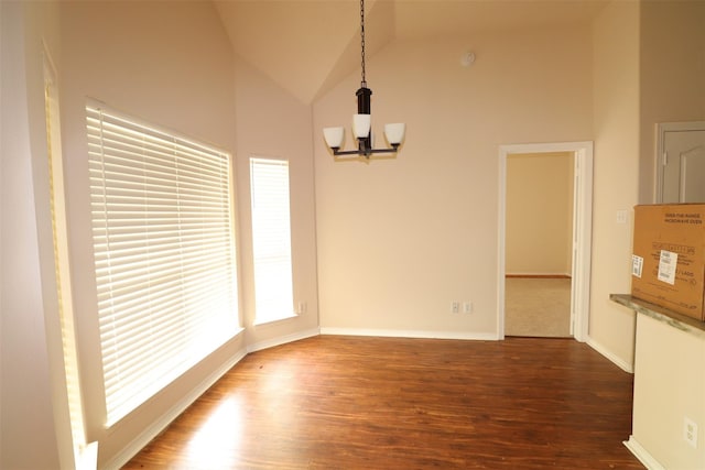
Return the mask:
{"type": "Polygon", "coordinates": [[[57,12],[31,2],[0,10],[0,467],[70,468],[48,185],[36,184],[48,181],[41,39],[56,55],[57,12]]]}

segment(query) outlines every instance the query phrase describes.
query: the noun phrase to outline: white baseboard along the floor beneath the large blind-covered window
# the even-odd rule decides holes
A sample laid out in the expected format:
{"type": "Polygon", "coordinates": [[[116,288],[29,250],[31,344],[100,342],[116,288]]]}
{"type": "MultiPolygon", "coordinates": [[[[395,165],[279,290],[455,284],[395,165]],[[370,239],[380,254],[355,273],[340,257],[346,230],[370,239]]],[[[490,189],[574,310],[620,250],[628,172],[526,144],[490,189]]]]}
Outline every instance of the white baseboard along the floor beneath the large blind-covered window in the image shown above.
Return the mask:
{"type": "MultiPolygon", "coordinates": [[[[237,336],[236,336],[237,338],[237,336]]],[[[110,461],[108,461],[104,468],[106,469],[120,469],[127,462],[137,456],[140,450],[144,448],[152,439],[154,439],[161,431],[163,431],[174,419],[176,419],[182,413],[188,408],[200,395],[206,393],[208,389],[213,386],[223,375],[225,375],[230,369],[232,369],[238,362],[240,362],[246,356],[247,350],[240,349],[228,361],[224,362],[218,369],[206,376],[199,384],[192,389],[189,393],[184,395],[182,400],[174,404],[166,411],[160,418],[152,422],[142,433],[140,433],[134,439],[132,439],[120,452],[118,452],[110,461]]]]}

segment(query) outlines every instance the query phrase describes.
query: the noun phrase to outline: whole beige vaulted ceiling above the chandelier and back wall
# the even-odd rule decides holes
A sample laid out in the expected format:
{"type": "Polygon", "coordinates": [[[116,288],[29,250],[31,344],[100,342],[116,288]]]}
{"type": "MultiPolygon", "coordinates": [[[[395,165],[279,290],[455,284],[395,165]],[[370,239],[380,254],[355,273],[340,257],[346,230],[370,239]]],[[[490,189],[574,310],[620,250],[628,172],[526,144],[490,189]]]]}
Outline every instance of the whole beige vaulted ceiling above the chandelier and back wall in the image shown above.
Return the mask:
{"type": "MultiPolygon", "coordinates": [[[[607,0],[367,0],[367,57],[390,41],[589,21],[607,0]]],[[[357,0],[215,0],[236,54],[304,103],[360,65],[357,0]]]]}

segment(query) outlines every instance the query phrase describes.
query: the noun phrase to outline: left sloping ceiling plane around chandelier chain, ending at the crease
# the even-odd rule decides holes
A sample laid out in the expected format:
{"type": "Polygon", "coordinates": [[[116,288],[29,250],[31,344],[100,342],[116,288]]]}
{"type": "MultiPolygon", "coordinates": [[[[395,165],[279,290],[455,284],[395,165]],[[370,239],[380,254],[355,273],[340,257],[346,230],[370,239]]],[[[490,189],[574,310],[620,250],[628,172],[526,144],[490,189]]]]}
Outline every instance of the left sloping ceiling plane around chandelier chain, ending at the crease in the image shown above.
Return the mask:
{"type": "MultiPolygon", "coordinates": [[[[358,1],[215,1],[237,55],[303,103],[360,65],[358,1]]],[[[366,50],[393,39],[394,2],[368,0],[366,50]]]]}

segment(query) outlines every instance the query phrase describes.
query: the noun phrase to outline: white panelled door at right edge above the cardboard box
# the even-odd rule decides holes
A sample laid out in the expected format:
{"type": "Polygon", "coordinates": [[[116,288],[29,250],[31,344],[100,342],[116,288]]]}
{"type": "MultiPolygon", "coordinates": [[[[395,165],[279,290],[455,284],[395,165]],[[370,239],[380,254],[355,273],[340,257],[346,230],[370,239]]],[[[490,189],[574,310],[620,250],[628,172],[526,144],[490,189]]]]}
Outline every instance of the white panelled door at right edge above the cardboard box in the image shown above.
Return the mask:
{"type": "Polygon", "coordinates": [[[705,128],[660,132],[660,203],[705,203],[705,128]]]}

